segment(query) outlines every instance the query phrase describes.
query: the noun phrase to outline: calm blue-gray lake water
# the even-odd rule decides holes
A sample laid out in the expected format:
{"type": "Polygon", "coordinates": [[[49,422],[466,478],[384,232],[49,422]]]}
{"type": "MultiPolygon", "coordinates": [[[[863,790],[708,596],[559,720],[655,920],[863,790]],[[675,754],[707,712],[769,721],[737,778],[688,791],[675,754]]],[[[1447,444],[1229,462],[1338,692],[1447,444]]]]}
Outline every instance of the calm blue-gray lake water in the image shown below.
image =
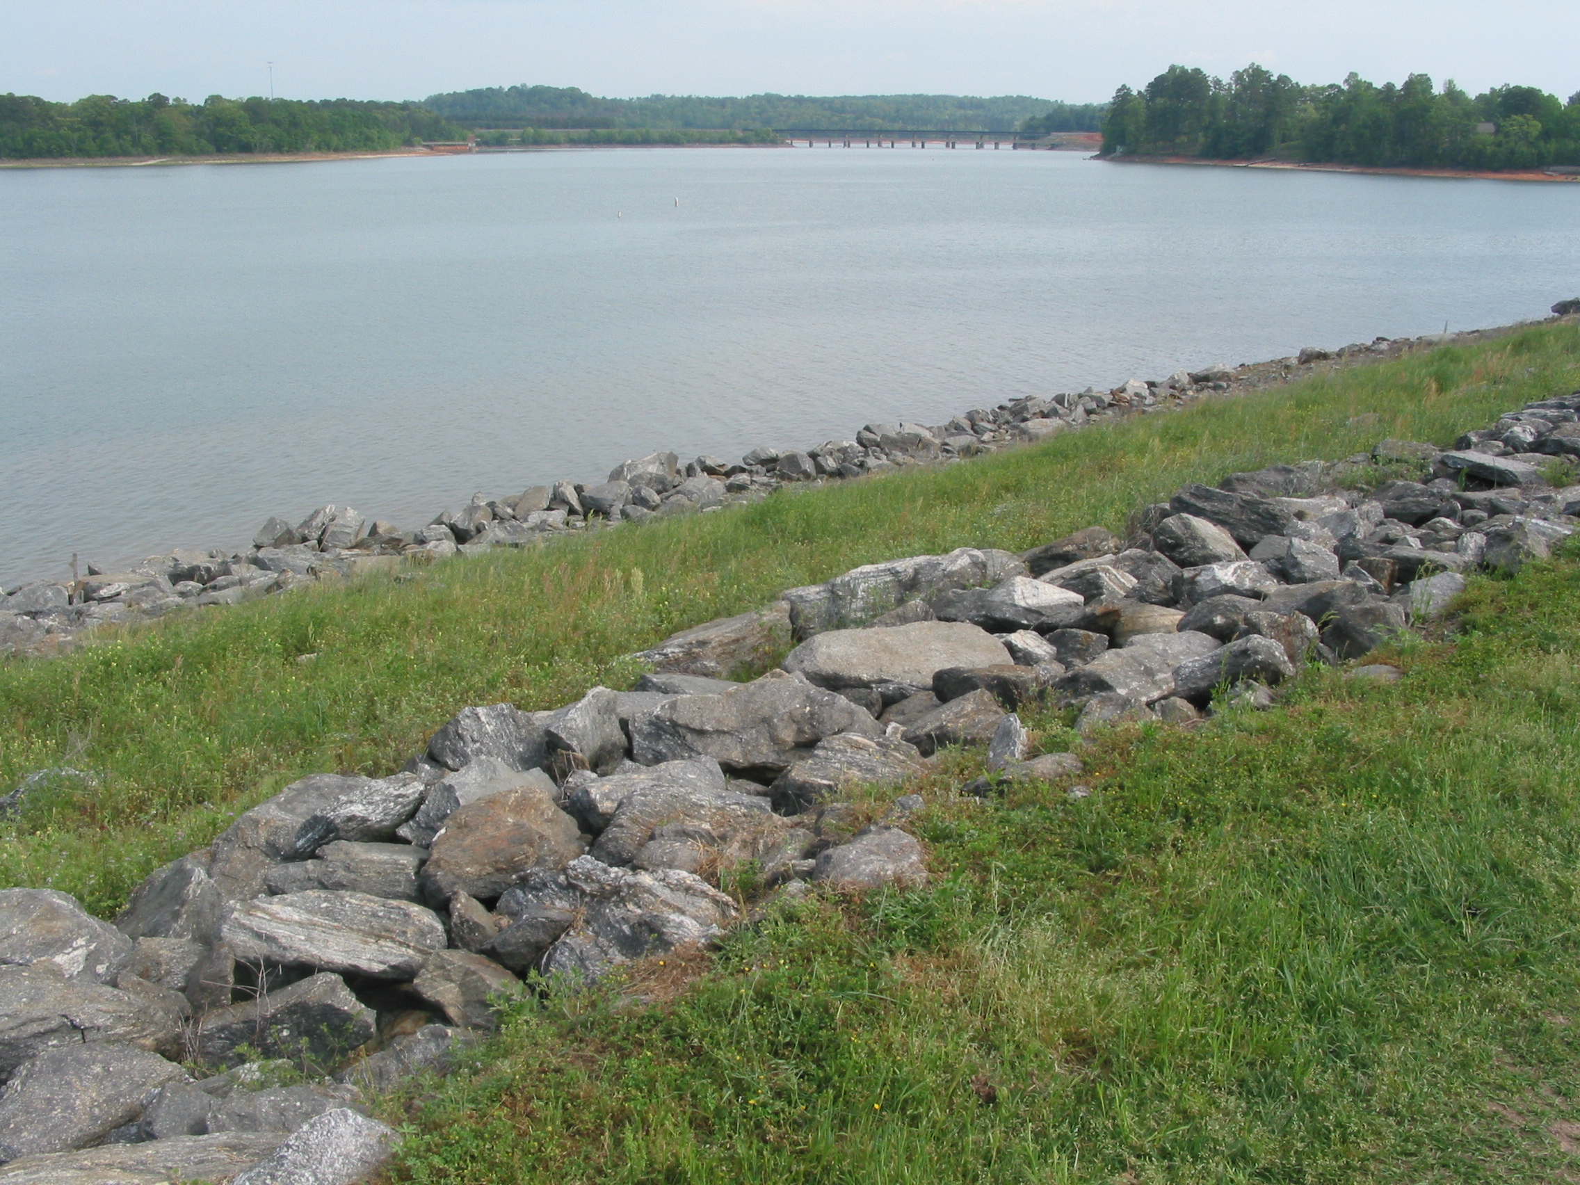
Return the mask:
{"type": "Polygon", "coordinates": [[[1577,209],[904,147],[0,171],[0,581],[1539,318],[1577,209]]]}

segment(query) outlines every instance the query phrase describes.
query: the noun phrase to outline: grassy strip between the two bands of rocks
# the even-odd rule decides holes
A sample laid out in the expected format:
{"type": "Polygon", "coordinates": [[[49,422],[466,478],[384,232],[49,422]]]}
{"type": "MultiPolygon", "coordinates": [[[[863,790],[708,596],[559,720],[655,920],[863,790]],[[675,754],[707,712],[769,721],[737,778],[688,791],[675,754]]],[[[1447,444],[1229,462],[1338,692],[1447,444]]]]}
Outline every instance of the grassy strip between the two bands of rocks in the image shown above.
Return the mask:
{"type": "Polygon", "coordinates": [[[621,656],[784,588],[902,555],[1119,529],[1188,480],[1338,458],[1386,436],[1450,441],[1577,381],[1580,329],[1531,327],[964,465],[452,561],[408,583],[308,589],[51,662],[5,660],[0,785],[57,765],[100,782],[40,793],[3,823],[0,883],[58,888],[109,915],[149,871],[295,777],[387,773],[469,703],[547,708],[592,683],[629,686],[621,656]]]}

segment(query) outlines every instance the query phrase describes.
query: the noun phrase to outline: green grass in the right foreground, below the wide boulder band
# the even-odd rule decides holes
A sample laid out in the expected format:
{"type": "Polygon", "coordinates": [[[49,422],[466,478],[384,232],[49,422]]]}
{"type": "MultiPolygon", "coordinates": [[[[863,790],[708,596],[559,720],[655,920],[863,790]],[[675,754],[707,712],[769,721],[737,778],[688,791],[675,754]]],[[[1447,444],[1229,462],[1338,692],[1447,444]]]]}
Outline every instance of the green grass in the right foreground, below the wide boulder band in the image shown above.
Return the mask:
{"type": "Polygon", "coordinates": [[[1577,656],[1571,558],[1397,686],[1112,733],[1085,799],[962,799],[962,755],[929,890],[739,931],[668,1003],[517,1008],[393,1179],[1569,1180],[1577,656]]]}

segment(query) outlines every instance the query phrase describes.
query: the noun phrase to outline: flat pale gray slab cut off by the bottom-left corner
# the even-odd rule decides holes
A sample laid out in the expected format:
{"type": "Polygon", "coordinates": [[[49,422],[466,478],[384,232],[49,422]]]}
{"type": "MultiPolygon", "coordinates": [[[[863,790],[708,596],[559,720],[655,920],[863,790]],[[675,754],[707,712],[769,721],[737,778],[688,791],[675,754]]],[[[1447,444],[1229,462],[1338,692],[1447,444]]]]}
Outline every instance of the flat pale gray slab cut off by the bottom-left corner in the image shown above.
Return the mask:
{"type": "Polygon", "coordinates": [[[273,1152],[278,1131],[177,1136],[147,1144],[106,1144],[81,1152],[24,1157],[0,1169],[0,1185],[171,1185],[234,1182],[235,1174],[273,1152]]]}

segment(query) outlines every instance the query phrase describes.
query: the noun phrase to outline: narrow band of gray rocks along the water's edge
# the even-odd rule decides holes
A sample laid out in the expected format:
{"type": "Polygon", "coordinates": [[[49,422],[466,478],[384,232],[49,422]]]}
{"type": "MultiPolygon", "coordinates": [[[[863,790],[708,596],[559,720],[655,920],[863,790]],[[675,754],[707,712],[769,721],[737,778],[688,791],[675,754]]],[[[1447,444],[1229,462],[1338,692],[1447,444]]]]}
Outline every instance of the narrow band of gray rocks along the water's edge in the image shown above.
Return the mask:
{"type": "Polygon", "coordinates": [[[784,487],[807,488],[908,465],[957,461],[1044,441],[1087,423],[1180,408],[1209,393],[1261,390],[1313,368],[1375,362],[1413,348],[1498,332],[1503,330],[1378,338],[1334,352],[1304,349],[1299,357],[1264,363],[1182,370],[1157,382],[1130,379],[1109,392],[1021,398],[976,408],[939,425],[869,423],[852,441],[825,441],[806,452],[752,449],[736,463],[705,455],[681,465],[675,453],[657,452],[618,465],[597,485],[561,480],[501,499],[479,493],[458,514],[446,510],[417,531],[370,521],[351,507],[325,506],[295,526],[270,518],[243,551],[179,548],[125,572],[101,570],[90,562],[87,574],[74,580],[35,580],[0,589],[0,654],[58,654],[104,624],[235,605],[321,578],[495,547],[529,547],[615,523],[711,512],[766,498],[784,487]]]}

